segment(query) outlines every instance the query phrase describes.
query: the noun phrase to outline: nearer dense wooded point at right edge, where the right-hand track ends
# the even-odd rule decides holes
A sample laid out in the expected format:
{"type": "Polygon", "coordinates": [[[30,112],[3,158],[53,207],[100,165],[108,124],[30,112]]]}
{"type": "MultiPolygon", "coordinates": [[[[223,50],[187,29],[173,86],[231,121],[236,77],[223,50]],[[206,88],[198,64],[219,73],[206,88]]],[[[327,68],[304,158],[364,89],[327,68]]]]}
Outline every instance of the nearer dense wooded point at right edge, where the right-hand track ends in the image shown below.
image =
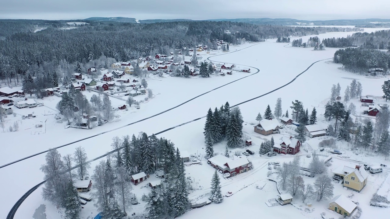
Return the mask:
{"type": "Polygon", "coordinates": [[[385,73],[389,68],[390,55],[375,49],[346,48],[335,52],[333,62],[342,64],[347,71],[360,74],[374,68],[383,69],[385,73]]]}

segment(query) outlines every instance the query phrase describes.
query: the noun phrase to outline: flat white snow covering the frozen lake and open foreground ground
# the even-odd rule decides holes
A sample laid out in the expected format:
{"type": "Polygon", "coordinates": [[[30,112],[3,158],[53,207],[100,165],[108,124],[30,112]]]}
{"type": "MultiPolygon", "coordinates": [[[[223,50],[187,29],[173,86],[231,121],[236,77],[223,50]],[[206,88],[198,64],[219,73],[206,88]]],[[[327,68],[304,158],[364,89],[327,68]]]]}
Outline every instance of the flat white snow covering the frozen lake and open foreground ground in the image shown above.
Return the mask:
{"type": "MultiPolygon", "coordinates": [[[[365,31],[371,32],[374,30],[366,28],[365,31]]],[[[322,39],[328,37],[345,37],[348,34],[353,34],[353,32],[336,32],[321,34],[319,35],[319,38],[322,39]]],[[[308,37],[310,36],[303,37],[303,41],[306,41],[308,37]]],[[[241,49],[252,45],[253,44],[243,44],[240,46],[231,46],[230,51],[234,51],[234,49],[241,49]]],[[[261,72],[254,76],[250,76],[248,78],[227,85],[216,91],[210,92],[209,94],[199,97],[198,99],[195,99],[187,104],[184,104],[183,106],[180,106],[179,108],[168,111],[167,113],[164,113],[157,117],[145,120],[135,125],[130,125],[125,128],[118,129],[113,132],[108,132],[88,140],[78,142],[74,145],[69,145],[67,147],[60,148],[59,152],[62,155],[65,155],[67,153],[73,154],[74,148],[78,145],[82,145],[83,147],[85,147],[88,157],[92,159],[111,150],[110,144],[113,136],[123,136],[126,134],[131,135],[133,133],[137,134],[140,131],[147,132],[147,134],[156,133],[167,128],[173,127],[175,125],[188,122],[195,118],[202,117],[206,115],[208,108],[215,108],[216,106],[219,108],[226,101],[229,101],[230,105],[232,106],[239,102],[251,99],[291,81],[293,78],[296,77],[297,74],[304,71],[313,62],[325,58],[332,58],[334,52],[337,50],[336,48],[326,48],[326,50],[324,51],[313,51],[311,48],[291,48],[290,46],[285,45],[285,43],[276,43],[274,39],[269,39],[266,42],[261,42],[255,46],[243,49],[235,53],[225,53],[225,55],[213,57],[211,58],[211,60],[213,61],[219,61],[222,63],[231,62],[239,65],[249,65],[259,68],[261,72]]],[[[207,55],[212,54],[213,52],[207,55]]],[[[206,58],[206,54],[204,57],[206,58]]],[[[345,87],[351,82],[353,78],[359,80],[362,83],[363,94],[375,96],[382,95],[381,85],[383,84],[383,81],[387,80],[388,78],[367,78],[365,76],[356,75],[351,72],[345,72],[340,69],[340,67],[341,65],[333,64],[332,60],[319,62],[313,65],[307,72],[305,72],[302,76],[300,76],[290,85],[262,98],[242,104],[240,108],[245,122],[255,123],[254,118],[256,117],[257,113],[263,113],[267,104],[270,104],[273,109],[275,101],[278,97],[282,97],[283,111],[288,108],[291,112],[289,108],[289,106],[291,105],[291,101],[298,99],[299,101],[302,101],[305,108],[309,108],[309,110],[313,106],[320,106],[318,111],[319,114],[321,114],[324,110],[321,109],[321,106],[326,103],[326,98],[329,96],[328,93],[330,92],[332,84],[336,84],[337,82],[339,82],[343,92],[345,87]]],[[[252,70],[252,72],[255,71],[252,70]]],[[[129,124],[145,117],[149,117],[165,109],[171,108],[172,106],[176,106],[177,104],[180,104],[181,102],[184,102],[208,90],[211,90],[212,88],[218,87],[248,74],[251,73],[238,72],[234,73],[233,75],[226,75],[224,77],[195,77],[189,79],[175,78],[169,76],[165,76],[165,78],[158,78],[155,76],[151,76],[151,79],[148,79],[148,83],[149,87],[153,89],[155,97],[148,103],[142,104],[141,109],[139,111],[129,110],[130,113],[125,113],[126,116],[119,117],[117,122],[104,124],[102,127],[97,127],[92,130],[80,130],[71,128],[63,129],[63,124],[57,124],[53,120],[49,122],[48,119],[48,122],[46,122],[47,126],[45,134],[31,135],[28,131],[25,131],[24,133],[22,131],[0,133],[0,136],[2,137],[2,153],[0,154],[0,164],[6,164],[8,162],[20,159],[27,155],[46,150],[50,147],[62,145],[71,141],[78,140],[80,138],[114,129],[125,124],[129,124]]],[[[85,92],[85,94],[87,93],[88,92],[85,92]]],[[[45,101],[46,100],[43,100],[43,102],[45,101]]],[[[53,100],[52,102],[55,103],[56,101],[53,100]]],[[[28,111],[38,111],[38,109],[39,108],[20,109],[20,111],[23,112],[17,113],[27,114],[28,111]]],[[[41,111],[41,109],[39,110],[41,111]]],[[[44,116],[40,115],[40,117],[44,116]]],[[[53,115],[50,115],[49,117],[53,117],[53,115]]],[[[204,119],[201,119],[196,122],[177,127],[176,129],[172,129],[168,132],[161,134],[161,136],[172,140],[176,144],[176,147],[178,147],[180,150],[186,150],[190,152],[190,154],[198,153],[200,157],[202,157],[202,154],[204,152],[204,150],[202,149],[204,145],[202,136],[203,125],[204,119]]],[[[252,139],[254,141],[254,146],[252,146],[251,148],[257,152],[258,147],[262,141],[261,138],[264,138],[264,136],[257,135],[258,138],[255,137],[256,134],[253,132],[253,127],[250,124],[245,125],[244,131],[253,135],[252,139]]],[[[277,139],[276,136],[274,138],[277,139]]],[[[315,147],[315,145],[312,146],[315,147]]],[[[223,147],[223,145],[217,145],[215,151],[222,151],[223,147]]],[[[301,153],[303,153],[303,151],[301,153]]],[[[227,191],[236,192],[248,185],[249,187],[227,198],[222,204],[218,206],[228,205],[228,203],[231,202],[230,204],[242,207],[243,210],[240,210],[241,214],[244,214],[244,212],[248,212],[248,214],[252,216],[258,215],[259,212],[245,210],[251,208],[247,208],[245,207],[246,205],[241,205],[239,203],[242,203],[244,200],[250,200],[246,202],[248,203],[248,205],[264,205],[264,207],[266,206],[263,200],[253,200],[253,198],[257,197],[253,195],[253,186],[259,180],[266,178],[266,173],[268,172],[268,170],[266,169],[266,164],[268,164],[268,161],[276,161],[283,157],[286,157],[287,160],[288,158],[291,159],[291,157],[289,156],[279,155],[271,158],[258,157],[255,155],[250,156],[249,158],[252,159],[254,162],[255,170],[249,171],[248,173],[240,174],[237,177],[231,179],[230,181],[222,180],[224,193],[227,191]],[[252,197],[252,199],[248,198],[249,196],[252,197]]],[[[360,157],[360,159],[363,160],[365,159],[365,157],[360,157]]],[[[372,160],[373,159],[371,159],[371,161],[372,160]]],[[[92,162],[92,168],[91,170],[89,170],[90,175],[92,175],[93,167],[98,162],[99,161],[92,162]]],[[[14,203],[16,203],[16,201],[26,191],[28,191],[28,189],[43,180],[43,174],[39,170],[39,167],[43,163],[44,154],[0,169],[0,175],[3,179],[6,179],[1,180],[0,185],[3,188],[9,188],[4,189],[4,191],[2,192],[3,204],[0,206],[0,217],[5,217],[5,215],[8,214],[9,209],[11,209],[14,203]]],[[[191,193],[189,195],[191,199],[196,199],[201,194],[206,193],[207,188],[209,187],[213,168],[206,165],[204,159],[203,163],[204,164],[202,166],[196,165],[187,167],[187,175],[194,177],[195,180],[199,181],[198,184],[201,188],[203,188],[203,190],[191,193]]],[[[270,182],[268,182],[267,185],[268,184],[270,184],[270,182]]],[[[140,185],[134,187],[134,192],[137,194],[138,200],[140,200],[140,196],[144,193],[142,192],[142,190],[145,191],[145,194],[147,193],[147,191],[149,191],[146,188],[138,189],[140,185]]],[[[275,192],[272,192],[272,194],[266,194],[267,198],[268,196],[274,197],[275,195],[275,192]]],[[[370,194],[370,198],[371,195],[372,193],[370,194]]],[[[265,200],[267,198],[263,197],[262,199],[265,200]]],[[[18,212],[16,213],[15,218],[31,218],[32,214],[34,214],[35,208],[37,208],[41,203],[45,202],[42,201],[40,189],[38,189],[31,196],[29,196],[27,200],[21,205],[18,212]]],[[[92,207],[92,203],[87,203],[86,206],[88,205],[91,207],[86,208],[85,211],[83,211],[83,217],[91,215],[91,212],[93,213],[93,216],[97,214],[96,209],[92,207]]],[[[191,212],[186,213],[183,217],[195,217],[195,214],[197,215],[197,217],[199,217],[200,214],[206,215],[211,213],[215,215],[235,214],[232,211],[226,210],[226,208],[223,208],[223,210],[221,210],[218,209],[220,207],[211,206],[217,205],[212,204],[204,208],[192,210],[191,212]]],[[[291,208],[291,206],[284,206],[284,208],[291,208]]],[[[140,205],[134,206],[134,210],[135,212],[138,212],[138,214],[142,213],[142,203],[140,205]]],[[[268,207],[264,208],[264,211],[266,211],[266,214],[274,214],[273,212],[283,214],[281,213],[282,211],[274,211],[274,209],[268,207]]],[[[376,208],[372,211],[373,214],[371,215],[378,215],[378,213],[375,212],[381,211],[387,212],[387,214],[390,212],[389,210],[377,210],[376,208]]],[[[47,212],[55,212],[55,210],[53,210],[52,205],[47,205],[47,212]]],[[[301,214],[301,211],[299,210],[296,210],[296,212],[294,212],[294,210],[286,212],[289,212],[289,215],[297,215],[296,218],[302,218],[302,215],[300,217],[298,216],[301,214]]],[[[319,214],[313,215],[313,217],[318,216],[319,214]]],[[[307,214],[305,214],[305,217],[310,218],[307,214]]],[[[51,218],[55,218],[55,215],[53,215],[51,218]]]]}

